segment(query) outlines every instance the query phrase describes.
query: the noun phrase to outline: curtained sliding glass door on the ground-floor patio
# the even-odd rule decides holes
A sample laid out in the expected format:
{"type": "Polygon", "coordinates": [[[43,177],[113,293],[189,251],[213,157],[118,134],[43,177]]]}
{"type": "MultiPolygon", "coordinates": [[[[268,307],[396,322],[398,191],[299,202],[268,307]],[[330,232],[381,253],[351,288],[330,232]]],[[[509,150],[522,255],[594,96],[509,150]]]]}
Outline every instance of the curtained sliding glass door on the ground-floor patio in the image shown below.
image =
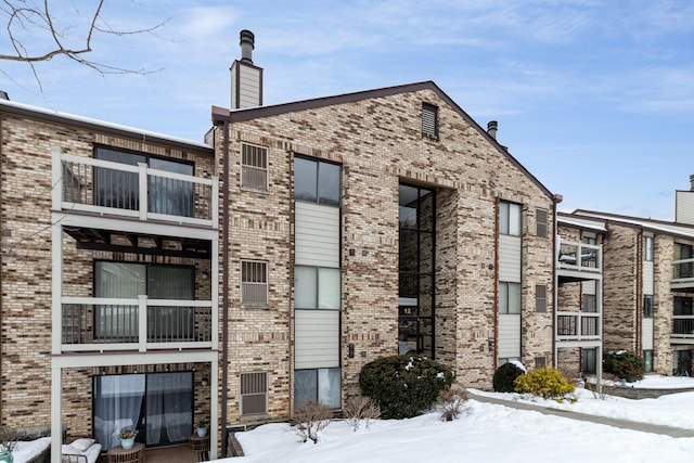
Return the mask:
{"type": "Polygon", "coordinates": [[[188,441],[193,427],[193,373],[94,376],[94,436],[107,450],[124,427],[147,447],[188,441]]]}

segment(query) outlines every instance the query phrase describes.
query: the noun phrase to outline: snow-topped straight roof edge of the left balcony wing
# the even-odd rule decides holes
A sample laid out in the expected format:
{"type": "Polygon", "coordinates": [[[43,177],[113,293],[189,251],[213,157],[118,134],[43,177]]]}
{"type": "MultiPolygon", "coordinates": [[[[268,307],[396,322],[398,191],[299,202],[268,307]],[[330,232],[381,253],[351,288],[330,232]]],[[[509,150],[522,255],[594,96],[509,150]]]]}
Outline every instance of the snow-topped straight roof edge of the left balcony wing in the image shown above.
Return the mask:
{"type": "Polygon", "coordinates": [[[184,150],[203,151],[213,154],[215,149],[204,143],[185,141],[176,137],[168,137],[163,133],[151,132],[147,130],[139,130],[132,127],[120,126],[117,124],[91,119],[88,117],[76,116],[72,114],[63,114],[51,112],[49,110],[35,107],[16,102],[0,102],[0,112],[15,114],[18,116],[30,117],[35,119],[48,120],[66,126],[78,127],[81,129],[100,131],[118,137],[127,137],[131,139],[141,139],[149,142],[176,146],[184,150]],[[10,104],[9,104],[10,103],[10,104]]]}

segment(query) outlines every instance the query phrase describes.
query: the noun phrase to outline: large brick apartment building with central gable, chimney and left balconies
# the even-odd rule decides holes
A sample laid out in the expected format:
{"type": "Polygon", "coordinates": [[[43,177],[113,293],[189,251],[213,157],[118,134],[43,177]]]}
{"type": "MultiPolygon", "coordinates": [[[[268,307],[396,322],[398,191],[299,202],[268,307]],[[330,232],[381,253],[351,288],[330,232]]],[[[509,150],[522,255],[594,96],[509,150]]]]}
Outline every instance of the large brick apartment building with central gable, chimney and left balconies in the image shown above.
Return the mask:
{"type": "Polygon", "coordinates": [[[563,220],[557,260],[560,197],[496,123],[430,81],[262,106],[252,50],[206,143],[0,101],[2,425],[106,450],[211,416],[215,458],[383,356],[490,388],[599,348],[601,220],[563,220]]]}

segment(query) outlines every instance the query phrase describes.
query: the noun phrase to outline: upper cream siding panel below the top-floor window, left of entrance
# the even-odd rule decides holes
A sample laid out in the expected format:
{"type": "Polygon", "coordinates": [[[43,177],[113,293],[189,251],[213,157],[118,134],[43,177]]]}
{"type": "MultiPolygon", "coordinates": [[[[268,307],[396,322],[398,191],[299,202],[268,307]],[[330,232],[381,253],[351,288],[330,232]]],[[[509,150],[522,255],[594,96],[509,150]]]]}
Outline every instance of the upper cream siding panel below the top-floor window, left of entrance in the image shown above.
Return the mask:
{"type": "Polygon", "coordinates": [[[339,267],[339,208],[295,203],[296,265],[339,267]]]}

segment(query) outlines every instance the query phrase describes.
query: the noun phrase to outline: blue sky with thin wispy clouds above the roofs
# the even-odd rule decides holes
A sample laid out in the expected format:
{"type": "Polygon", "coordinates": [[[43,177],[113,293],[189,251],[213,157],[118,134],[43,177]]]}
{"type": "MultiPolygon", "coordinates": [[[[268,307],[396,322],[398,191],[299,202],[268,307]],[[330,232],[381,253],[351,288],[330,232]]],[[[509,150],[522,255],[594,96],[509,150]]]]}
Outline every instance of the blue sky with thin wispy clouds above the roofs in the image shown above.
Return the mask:
{"type": "MultiPolygon", "coordinates": [[[[89,13],[55,2],[65,34],[89,13]],[[73,27],[67,27],[73,26],[73,27]]],[[[434,80],[552,192],[562,210],[672,220],[694,173],[694,2],[106,0],[90,59],[0,62],[10,99],[202,141],[229,107],[239,31],[256,36],[266,104],[434,80]]],[[[34,30],[27,48],[41,50],[34,30]]],[[[0,51],[9,43],[3,37],[0,51]]]]}

